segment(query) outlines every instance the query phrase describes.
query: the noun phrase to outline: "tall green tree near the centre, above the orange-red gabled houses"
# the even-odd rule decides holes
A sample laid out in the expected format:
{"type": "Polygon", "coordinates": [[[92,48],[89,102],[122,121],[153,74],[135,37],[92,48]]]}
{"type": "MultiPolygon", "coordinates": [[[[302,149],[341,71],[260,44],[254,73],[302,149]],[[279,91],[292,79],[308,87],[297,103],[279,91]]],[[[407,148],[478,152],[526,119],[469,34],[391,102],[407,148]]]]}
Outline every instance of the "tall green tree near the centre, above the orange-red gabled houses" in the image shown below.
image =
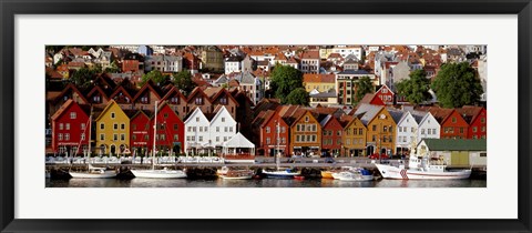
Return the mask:
{"type": "Polygon", "coordinates": [[[272,91],[282,103],[287,103],[286,98],[290,92],[303,87],[301,71],[289,65],[276,65],[272,71],[272,91]]]}

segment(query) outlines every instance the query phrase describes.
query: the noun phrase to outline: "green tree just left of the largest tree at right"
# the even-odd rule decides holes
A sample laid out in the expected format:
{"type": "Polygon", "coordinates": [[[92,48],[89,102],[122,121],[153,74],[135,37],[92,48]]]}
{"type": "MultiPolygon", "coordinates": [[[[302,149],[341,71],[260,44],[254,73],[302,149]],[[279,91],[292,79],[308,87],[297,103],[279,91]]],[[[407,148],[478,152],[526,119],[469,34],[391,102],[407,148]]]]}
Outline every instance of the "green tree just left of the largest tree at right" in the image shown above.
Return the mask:
{"type": "Polygon", "coordinates": [[[397,83],[398,93],[415,104],[430,100],[432,95],[429,90],[430,80],[427,79],[424,70],[416,70],[410,73],[410,79],[397,83]]]}

